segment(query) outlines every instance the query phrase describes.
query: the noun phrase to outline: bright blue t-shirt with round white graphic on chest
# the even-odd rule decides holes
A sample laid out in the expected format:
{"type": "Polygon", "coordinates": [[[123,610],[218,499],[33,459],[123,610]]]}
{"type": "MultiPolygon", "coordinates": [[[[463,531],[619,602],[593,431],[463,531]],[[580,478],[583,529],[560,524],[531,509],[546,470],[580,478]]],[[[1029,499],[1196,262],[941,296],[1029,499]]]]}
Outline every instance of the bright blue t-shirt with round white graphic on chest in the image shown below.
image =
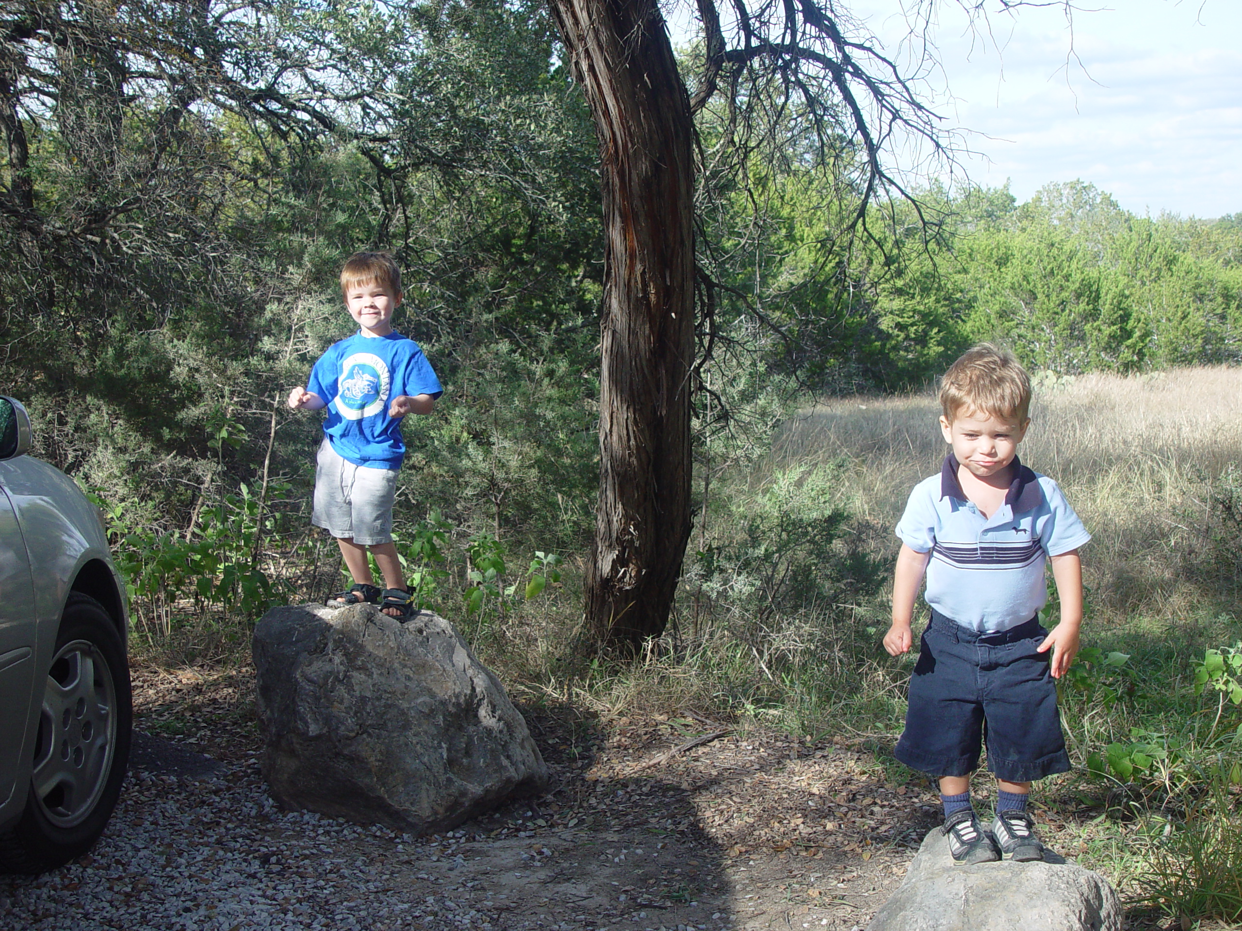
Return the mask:
{"type": "Polygon", "coordinates": [[[400,333],[334,343],[310,370],[307,391],[328,403],[323,432],[337,454],[375,469],[399,469],[405,457],[401,418],[388,413],[392,398],[443,394],[419,344],[400,333]]]}

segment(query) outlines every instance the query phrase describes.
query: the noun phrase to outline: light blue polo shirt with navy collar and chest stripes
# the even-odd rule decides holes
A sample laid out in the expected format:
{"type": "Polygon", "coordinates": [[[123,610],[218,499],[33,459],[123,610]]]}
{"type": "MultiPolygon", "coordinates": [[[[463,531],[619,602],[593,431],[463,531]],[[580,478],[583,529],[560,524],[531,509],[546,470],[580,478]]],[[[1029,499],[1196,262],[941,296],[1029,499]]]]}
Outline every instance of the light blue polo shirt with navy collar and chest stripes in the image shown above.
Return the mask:
{"type": "Polygon", "coordinates": [[[928,605],[963,627],[984,633],[1030,621],[1048,601],[1043,567],[1090,534],[1047,475],[1013,458],[1005,503],[985,518],[966,500],[958,459],[949,453],[939,475],[910,492],[897,535],[917,552],[932,551],[928,605]]]}

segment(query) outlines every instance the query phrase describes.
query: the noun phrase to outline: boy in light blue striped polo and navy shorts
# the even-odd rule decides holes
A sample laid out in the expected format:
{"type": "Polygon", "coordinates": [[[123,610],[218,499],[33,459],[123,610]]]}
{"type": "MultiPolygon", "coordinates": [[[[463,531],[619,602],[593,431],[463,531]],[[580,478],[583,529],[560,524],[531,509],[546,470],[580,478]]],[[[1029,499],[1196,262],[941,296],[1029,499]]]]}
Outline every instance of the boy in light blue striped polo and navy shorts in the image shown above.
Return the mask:
{"type": "Polygon", "coordinates": [[[1090,534],[1057,483],[1018,462],[1030,402],[1031,381],[1012,353],[984,344],[954,362],[940,381],[940,430],[951,452],[939,475],[915,485],[897,525],[902,550],[884,649],[895,657],[910,648],[924,572],[932,619],[895,756],[939,777],[955,863],[1042,859],[1027,812],[1031,782],[1069,770],[1053,679],[1078,653],[1078,547],[1090,534]],[[1061,600],[1052,633],[1038,618],[1046,560],[1061,600]],[[985,734],[997,781],[986,832],[970,804],[985,734]]]}

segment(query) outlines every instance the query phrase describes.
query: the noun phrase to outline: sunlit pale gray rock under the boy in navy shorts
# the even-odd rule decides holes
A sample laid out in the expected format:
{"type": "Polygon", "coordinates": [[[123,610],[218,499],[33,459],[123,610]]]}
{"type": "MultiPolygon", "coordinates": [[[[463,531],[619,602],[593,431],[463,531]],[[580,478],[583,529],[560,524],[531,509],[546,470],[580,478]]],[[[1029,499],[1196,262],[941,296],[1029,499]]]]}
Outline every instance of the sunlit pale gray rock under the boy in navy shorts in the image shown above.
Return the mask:
{"type": "Polygon", "coordinates": [[[1043,863],[955,866],[939,828],[867,931],[1122,931],[1122,902],[1097,873],[1043,863]]]}

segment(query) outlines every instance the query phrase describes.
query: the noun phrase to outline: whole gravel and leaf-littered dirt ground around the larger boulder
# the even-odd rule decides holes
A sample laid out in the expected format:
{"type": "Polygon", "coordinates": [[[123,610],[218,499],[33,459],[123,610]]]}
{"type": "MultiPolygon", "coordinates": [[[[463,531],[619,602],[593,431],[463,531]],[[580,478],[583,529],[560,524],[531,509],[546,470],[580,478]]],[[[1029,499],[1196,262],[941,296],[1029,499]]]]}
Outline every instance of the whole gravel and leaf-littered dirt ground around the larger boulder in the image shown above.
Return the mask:
{"type": "Polygon", "coordinates": [[[524,710],[554,788],[533,804],[425,839],[279,813],[251,681],[135,669],[135,726],[156,740],[98,857],[4,880],[0,925],[861,929],[936,821],[850,746],[538,709],[524,710]],[[224,766],[161,761],[161,741],[224,766]],[[88,890],[94,911],[75,902],[88,890]]]}

